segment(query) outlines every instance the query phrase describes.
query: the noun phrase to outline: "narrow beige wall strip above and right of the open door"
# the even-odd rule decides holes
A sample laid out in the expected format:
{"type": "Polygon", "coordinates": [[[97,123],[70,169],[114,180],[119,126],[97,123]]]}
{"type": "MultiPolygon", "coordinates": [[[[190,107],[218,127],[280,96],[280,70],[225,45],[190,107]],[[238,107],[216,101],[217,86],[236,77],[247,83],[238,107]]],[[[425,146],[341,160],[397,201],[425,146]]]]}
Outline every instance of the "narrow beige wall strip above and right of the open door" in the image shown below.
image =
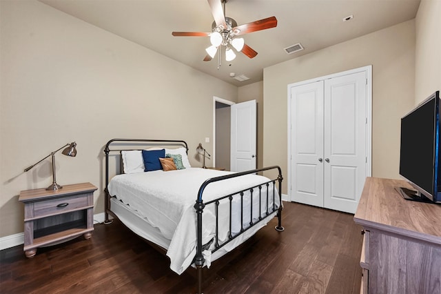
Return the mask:
{"type": "Polygon", "coordinates": [[[257,168],[263,168],[263,81],[238,88],[238,102],[257,102],[257,168]]]}

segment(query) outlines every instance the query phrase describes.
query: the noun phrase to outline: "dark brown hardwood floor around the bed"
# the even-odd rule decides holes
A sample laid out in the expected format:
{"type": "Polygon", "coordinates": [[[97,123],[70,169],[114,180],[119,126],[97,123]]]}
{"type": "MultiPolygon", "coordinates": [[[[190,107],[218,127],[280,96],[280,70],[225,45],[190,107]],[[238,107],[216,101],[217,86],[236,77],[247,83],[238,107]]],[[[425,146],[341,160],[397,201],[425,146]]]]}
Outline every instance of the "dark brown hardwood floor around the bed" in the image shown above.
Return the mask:
{"type": "MultiPolygon", "coordinates": [[[[204,268],[204,293],[360,293],[361,227],[353,215],[285,203],[245,244],[204,268]]],[[[0,293],[195,293],[196,270],[177,275],[169,259],[120,222],[92,239],[0,251],[0,293]]]]}

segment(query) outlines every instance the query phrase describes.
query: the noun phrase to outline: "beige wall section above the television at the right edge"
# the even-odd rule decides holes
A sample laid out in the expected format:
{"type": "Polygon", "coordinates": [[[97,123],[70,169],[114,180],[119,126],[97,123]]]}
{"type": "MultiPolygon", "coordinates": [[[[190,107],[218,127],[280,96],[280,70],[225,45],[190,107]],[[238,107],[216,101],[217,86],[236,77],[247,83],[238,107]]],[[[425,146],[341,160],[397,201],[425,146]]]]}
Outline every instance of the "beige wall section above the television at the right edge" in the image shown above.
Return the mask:
{"type": "Polygon", "coordinates": [[[415,104],[441,90],[441,1],[422,0],[416,15],[415,104]]]}

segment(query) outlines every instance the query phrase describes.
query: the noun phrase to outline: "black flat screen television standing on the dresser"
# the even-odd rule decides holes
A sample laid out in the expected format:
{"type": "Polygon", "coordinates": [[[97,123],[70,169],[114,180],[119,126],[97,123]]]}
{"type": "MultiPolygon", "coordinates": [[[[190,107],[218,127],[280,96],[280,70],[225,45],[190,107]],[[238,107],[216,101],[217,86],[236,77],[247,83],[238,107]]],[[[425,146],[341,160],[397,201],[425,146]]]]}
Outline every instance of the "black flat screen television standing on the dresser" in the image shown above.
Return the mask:
{"type": "Polygon", "coordinates": [[[400,175],[415,189],[404,199],[441,203],[440,91],[401,119],[400,175]]]}

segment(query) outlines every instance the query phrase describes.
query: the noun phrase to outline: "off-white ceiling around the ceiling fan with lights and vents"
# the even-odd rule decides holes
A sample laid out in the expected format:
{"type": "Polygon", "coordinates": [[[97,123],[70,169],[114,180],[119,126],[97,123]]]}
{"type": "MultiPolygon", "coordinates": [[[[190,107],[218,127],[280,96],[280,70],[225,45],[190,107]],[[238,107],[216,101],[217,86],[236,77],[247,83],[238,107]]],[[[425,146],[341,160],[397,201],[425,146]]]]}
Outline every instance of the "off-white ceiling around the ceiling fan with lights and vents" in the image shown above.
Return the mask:
{"type": "Polygon", "coordinates": [[[278,26],[243,35],[258,55],[249,59],[238,52],[218,70],[216,57],[203,61],[208,37],[172,36],[172,31],[211,31],[207,0],[40,1],[236,86],[261,81],[267,66],[413,19],[420,5],[420,0],[229,0],[226,16],[238,25],[275,16],[278,26]],[[342,21],[349,15],[353,19],[342,21]],[[284,48],[295,43],[305,50],[288,55],[284,48]],[[230,72],[250,79],[236,81],[230,72]]]}

